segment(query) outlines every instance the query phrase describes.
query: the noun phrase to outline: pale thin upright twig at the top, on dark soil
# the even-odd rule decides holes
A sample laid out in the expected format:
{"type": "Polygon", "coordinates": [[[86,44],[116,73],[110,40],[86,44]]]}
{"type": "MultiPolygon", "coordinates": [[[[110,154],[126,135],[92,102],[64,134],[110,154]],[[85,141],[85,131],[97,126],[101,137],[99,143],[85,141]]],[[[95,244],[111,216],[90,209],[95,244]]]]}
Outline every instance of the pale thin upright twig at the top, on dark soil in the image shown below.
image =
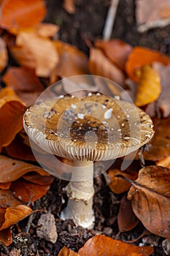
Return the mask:
{"type": "Polygon", "coordinates": [[[107,18],[104,25],[103,39],[109,40],[112,35],[112,28],[115,22],[115,16],[117,12],[117,6],[120,0],[112,0],[109,10],[107,12],[107,18]]]}

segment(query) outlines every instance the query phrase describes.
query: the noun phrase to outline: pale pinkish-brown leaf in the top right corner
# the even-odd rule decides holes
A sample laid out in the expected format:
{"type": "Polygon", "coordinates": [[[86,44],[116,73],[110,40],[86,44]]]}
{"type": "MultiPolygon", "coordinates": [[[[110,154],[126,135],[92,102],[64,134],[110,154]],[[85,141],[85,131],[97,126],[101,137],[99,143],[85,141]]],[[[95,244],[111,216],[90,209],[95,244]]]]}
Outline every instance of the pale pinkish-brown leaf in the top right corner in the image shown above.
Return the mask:
{"type": "Polygon", "coordinates": [[[169,0],[136,0],[136,23],[139,32],[167,26],[170,23],[169,0]]]}

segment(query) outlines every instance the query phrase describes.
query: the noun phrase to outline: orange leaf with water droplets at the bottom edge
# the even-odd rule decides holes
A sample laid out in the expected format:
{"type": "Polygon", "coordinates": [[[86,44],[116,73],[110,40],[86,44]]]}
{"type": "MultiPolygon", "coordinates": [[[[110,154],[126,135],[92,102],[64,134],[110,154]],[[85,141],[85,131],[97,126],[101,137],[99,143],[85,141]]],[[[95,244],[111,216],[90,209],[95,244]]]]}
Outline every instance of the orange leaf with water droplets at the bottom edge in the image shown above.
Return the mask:
{"type": "Polygon", "coordinates": [[[100,235],[90,238],[78,254],[80,256],[128,256],[131,252],[142,252],[147,256],[152,254],[153,249],[152,246],[134,246],[100,235]]]}

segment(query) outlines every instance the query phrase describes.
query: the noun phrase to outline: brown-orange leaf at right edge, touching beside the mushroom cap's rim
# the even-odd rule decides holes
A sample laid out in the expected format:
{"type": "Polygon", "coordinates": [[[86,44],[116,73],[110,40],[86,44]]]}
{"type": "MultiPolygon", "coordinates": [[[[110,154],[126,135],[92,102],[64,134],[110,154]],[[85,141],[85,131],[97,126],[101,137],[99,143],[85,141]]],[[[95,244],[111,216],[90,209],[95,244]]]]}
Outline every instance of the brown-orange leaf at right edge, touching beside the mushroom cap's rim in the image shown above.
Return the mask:
{"type": "Polygon", "coordinates": [[[143,156],[146,160],[159,161],[170,155],[170,116],[158,120],[155,124],[155,135],[151,140],[152,147],[149,151],[144,152],[143,156]]]}

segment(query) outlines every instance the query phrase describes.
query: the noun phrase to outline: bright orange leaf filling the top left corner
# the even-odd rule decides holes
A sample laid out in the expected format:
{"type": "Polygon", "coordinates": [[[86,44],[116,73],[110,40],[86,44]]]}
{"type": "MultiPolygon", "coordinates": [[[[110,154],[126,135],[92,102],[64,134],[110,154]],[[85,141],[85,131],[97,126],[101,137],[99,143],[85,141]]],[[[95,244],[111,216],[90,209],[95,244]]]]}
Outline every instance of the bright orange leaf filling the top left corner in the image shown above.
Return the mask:
{"type": "Polygon", "coordinates": [[[7,30],[35,26],[45,14],[43,0],[4,0],[1,4],[0,26],[7,30]]]}

